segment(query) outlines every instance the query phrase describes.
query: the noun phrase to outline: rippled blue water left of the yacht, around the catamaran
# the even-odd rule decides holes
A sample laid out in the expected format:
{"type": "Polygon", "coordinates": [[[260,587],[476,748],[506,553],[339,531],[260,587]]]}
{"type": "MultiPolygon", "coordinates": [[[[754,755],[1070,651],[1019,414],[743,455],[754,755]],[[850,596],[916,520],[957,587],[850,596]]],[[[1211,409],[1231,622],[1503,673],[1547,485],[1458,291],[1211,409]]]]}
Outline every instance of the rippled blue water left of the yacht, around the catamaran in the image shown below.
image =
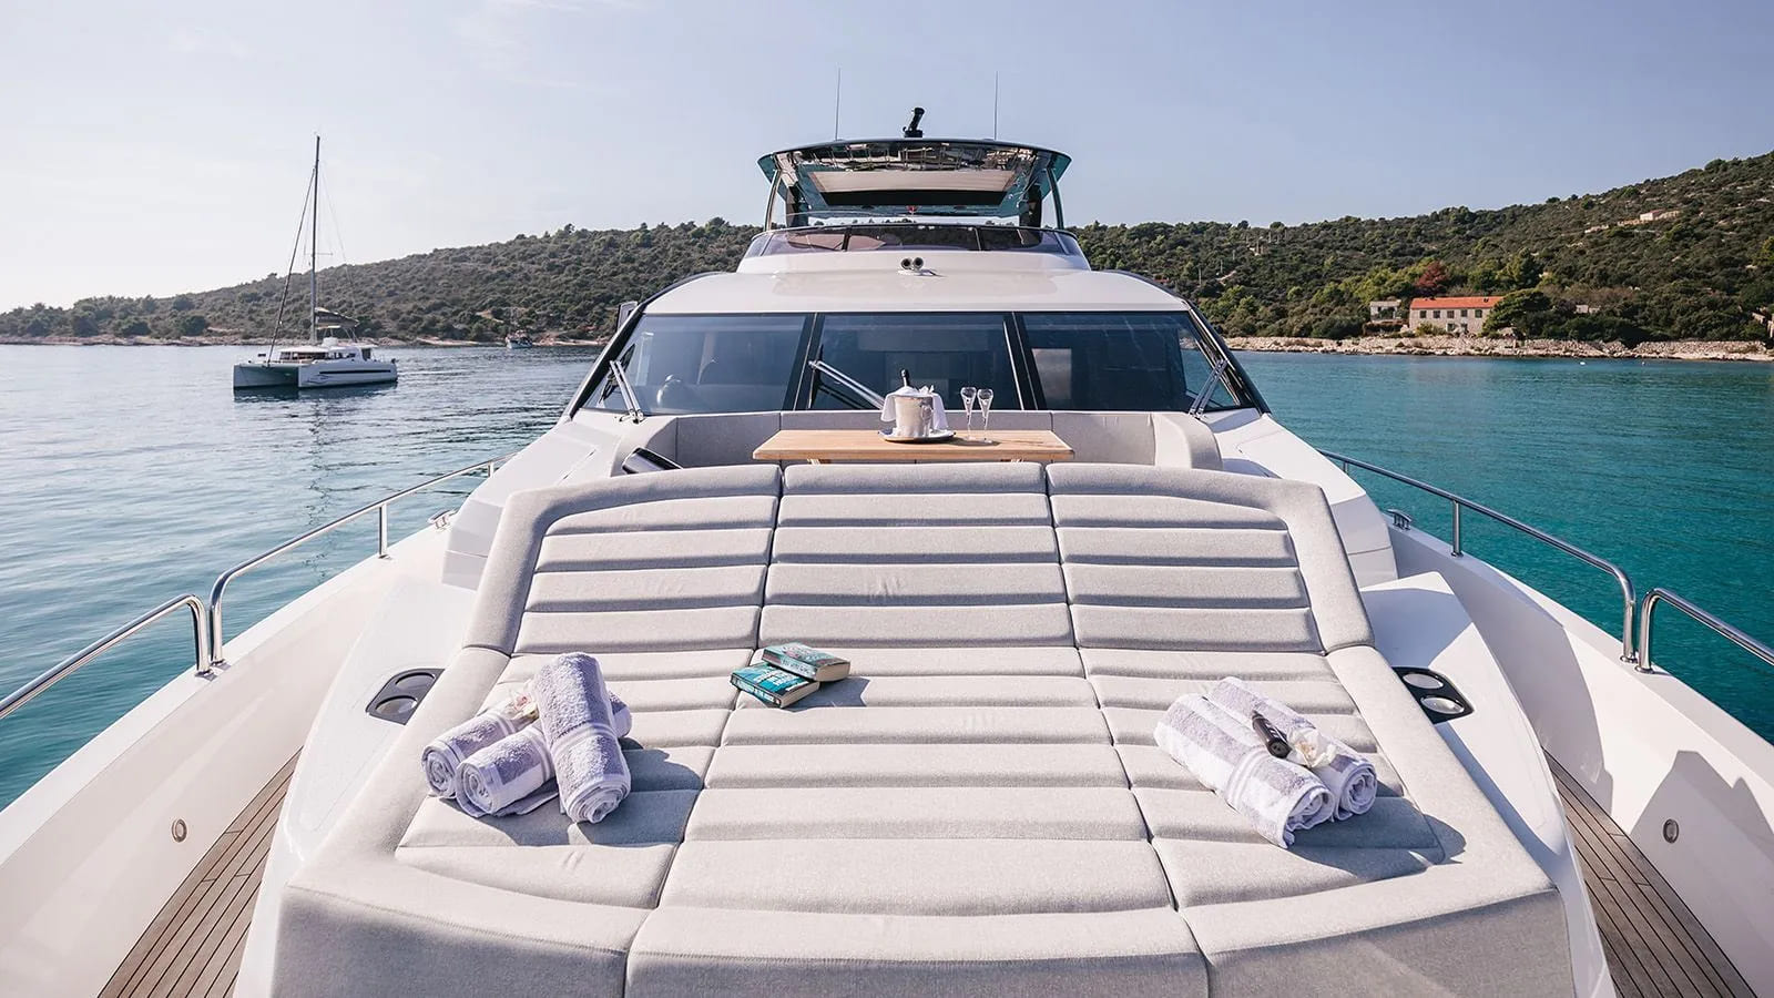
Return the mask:
{"type": "MultiPolygon", "coordinates": [[[[426,478],[522,448],[594,350],[389,350],[392,387],[239,396],[232,346],[0,346],[0,687],[224,568],[426,478]]],[[[390,538],[479,478],[394,508],[390,538]]],[[[229,586],[227,634],[374,552],[374,517],[229,586]]],[[[11,801],[192,668],[167,618],[0,721],[11,801]]]]}

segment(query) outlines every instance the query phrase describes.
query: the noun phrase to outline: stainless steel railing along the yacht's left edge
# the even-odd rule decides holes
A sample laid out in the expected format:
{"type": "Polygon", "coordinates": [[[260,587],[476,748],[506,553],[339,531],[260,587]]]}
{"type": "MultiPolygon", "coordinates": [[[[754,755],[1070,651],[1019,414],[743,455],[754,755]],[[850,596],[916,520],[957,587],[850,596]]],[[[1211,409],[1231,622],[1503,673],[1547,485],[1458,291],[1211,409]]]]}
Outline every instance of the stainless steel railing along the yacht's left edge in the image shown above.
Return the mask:
{"type": "MultiPolygon", "coordinates": [[[[459,467],[459,469],[452,471],[449,474],[440,474],[436,478],[429,478],[426,481],[420,481],[419,485],[413,485],[412,488],[403,488],[403,490],[396,492],[394,495],[378,499],[376,503],[371,503],[369,506],[364,506],[362,510],[353,510],[351,513],[346,513],[346,515],[339,517],[337,520],[332,520],[328,524],[314,527],[312,531],[309,531],[309,533],[305,533],[302,536],[286,540],[284,543],[280,543],[280,545],[266,550],[264,554],[259,554],[259,556],[254,556],[254,558],[250,558],[247,561],[241,561],[239,565],[229,568],[227,572],[224,572],[222,575],[216,577],[215,586],[211,586],[211,590],[209,590],[209,602],[208,604],[204,602],[202,597],[199,597],[195,593],[184,593],[183,597],[174,597],[174,598],[160,604],[158,607],[144,613],[142,616],[131,620],[130,623],[124,623],[117,630],[112,630],[110,634],[99,638],[98,641],[87,645],[85,648],[75,652],[73,655],[69,655],[66,659],[62,659],[60,662],[57,662],[55,666],[51,666],[50,669],[43,671],[43,675],[39,675],[39,677],[32,678],[30,682],[27,682],[25,685],[21,685],[21,687],[14,689],[12,693],[5,694],[5,698],[0,700],[0,717],[5,717],[7,714],[18,710],[20,707],[30,703],[34,698],[37,698],[37,694],[41,694],[43,691],[50,689],[57,682],[67,678],[69,675],[80,671],[92,659],[98,659],[105,652],[110,652],[112,648],[115,648],[124,639],[128,639],[133,634],[147,629],[149,625],[160,622],[161,618],[165,618],[167,614],[170,614],[170,613],[174,613],[174,611],[177,611],[181,607],[188,609],[190,614],[192,614],[192,661],[195,664],[195,671],[197,671],[199,677],[211,675],[211,669],[215,666],[224,664],[224,659],[222,659],[222,595],[227,591],[227,584],[236,575],[239,575],[241,572],[247,572],[250,568],[255,568],[259,565],[264,565],[271,558],[277,558],[279,554],[282,554],[286,550],[291,550],[294,547],[302,547],[303,543],[307,543],[307,542],[310,542],[310,540],[314,540],[314,538],[318,538],[318,536],[321,536],[325,533],[330,533],[330,531],[334,531],[334,529],[337,529],[337,527],[341,527],[344,524],[349,524],[351,520],[357,520],[358,517],[369,515],[371,511],[376,513],[376,558],[387,558],[389,556],[389,506],[392,503],[406,499],[408,495],[413,495],[415,492],[424,492],[424,490],[428,490],[428,488],[431,488],[435,485],[442,485],[442,483],[445,483],[445,481],[449,481],[452,478],[461,478],[465,474],[474,474],[474,472],[479,472],[479,471],[493,474],[493,469],[498,467],[500,463],[504,463],[509,458],[511,458],[511,455],[502,455],[502,456],[490,458],[490,460],[479,460],[479,462],[474,462],[472,465],[459,467]]],[[[433,526],[445,526],[447,522],[449,522],[447,517],[444,517],[442,513],[431,517],[431,524],[433,526]],[[440,522],[440,519],[442,519],[442,522],[440,522]]]]}

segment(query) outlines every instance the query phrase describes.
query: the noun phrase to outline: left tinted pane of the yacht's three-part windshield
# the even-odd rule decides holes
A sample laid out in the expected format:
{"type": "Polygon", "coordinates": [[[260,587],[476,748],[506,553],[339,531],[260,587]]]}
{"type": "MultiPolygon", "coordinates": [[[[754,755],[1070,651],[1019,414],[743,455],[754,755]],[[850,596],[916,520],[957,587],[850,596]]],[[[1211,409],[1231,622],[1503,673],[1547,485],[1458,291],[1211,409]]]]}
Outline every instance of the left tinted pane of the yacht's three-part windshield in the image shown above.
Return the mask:
{"type": "MultiPolygon", "coordinates": [[[[788,403],[807,316],[642,316],[617,357],[648,414],[761,412],[788,403]]],[[[614,378],[591,396],[626,408],[614,378]]]]}

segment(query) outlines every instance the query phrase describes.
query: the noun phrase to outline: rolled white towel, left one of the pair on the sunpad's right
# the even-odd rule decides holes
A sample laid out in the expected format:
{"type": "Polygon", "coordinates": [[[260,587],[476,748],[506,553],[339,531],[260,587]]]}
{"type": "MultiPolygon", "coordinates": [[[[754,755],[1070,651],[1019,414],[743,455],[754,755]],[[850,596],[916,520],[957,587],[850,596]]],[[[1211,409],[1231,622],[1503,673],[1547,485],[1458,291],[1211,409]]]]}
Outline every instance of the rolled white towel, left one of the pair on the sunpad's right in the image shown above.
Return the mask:
{"type": "Polygon", "coordinates": [[[1245,817],[1258,835],[1293,845],[1293,833],[1330,817],[1330,790],[1306,767],[1268,755],[1249,725],[1205,696],[1180,696],[1153,737],[1210,790],[1245,817]]]}

